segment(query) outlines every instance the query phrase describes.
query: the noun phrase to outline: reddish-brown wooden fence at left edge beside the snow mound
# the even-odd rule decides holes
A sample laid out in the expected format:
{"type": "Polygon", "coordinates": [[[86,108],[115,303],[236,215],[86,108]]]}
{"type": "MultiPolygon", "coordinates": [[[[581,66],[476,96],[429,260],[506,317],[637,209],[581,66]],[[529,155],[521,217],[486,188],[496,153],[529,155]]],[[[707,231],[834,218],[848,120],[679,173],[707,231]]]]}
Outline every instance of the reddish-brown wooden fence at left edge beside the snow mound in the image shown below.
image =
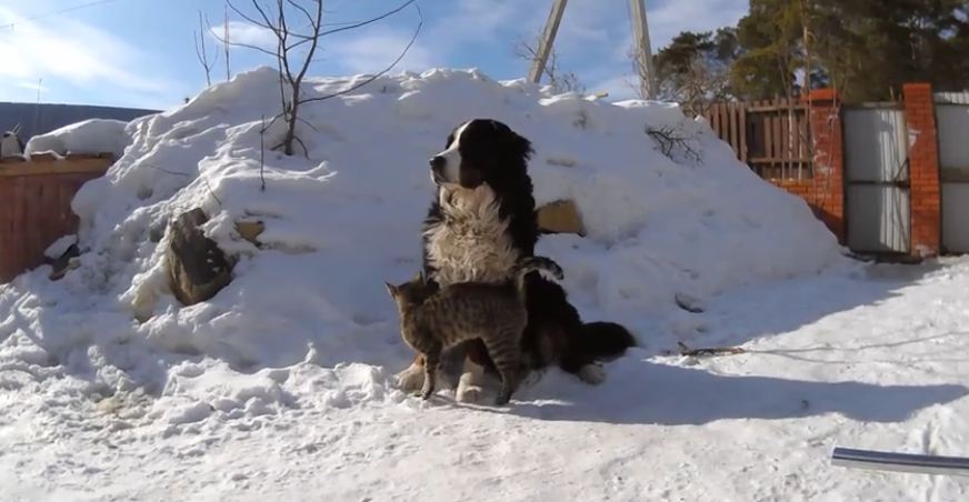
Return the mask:
{"type": "Polygon", "coordinates": [[[44,250],[77,231],[74,193],[112,163],[111,154],[0,161],[0,283],[43,264],[44,250]]]}

